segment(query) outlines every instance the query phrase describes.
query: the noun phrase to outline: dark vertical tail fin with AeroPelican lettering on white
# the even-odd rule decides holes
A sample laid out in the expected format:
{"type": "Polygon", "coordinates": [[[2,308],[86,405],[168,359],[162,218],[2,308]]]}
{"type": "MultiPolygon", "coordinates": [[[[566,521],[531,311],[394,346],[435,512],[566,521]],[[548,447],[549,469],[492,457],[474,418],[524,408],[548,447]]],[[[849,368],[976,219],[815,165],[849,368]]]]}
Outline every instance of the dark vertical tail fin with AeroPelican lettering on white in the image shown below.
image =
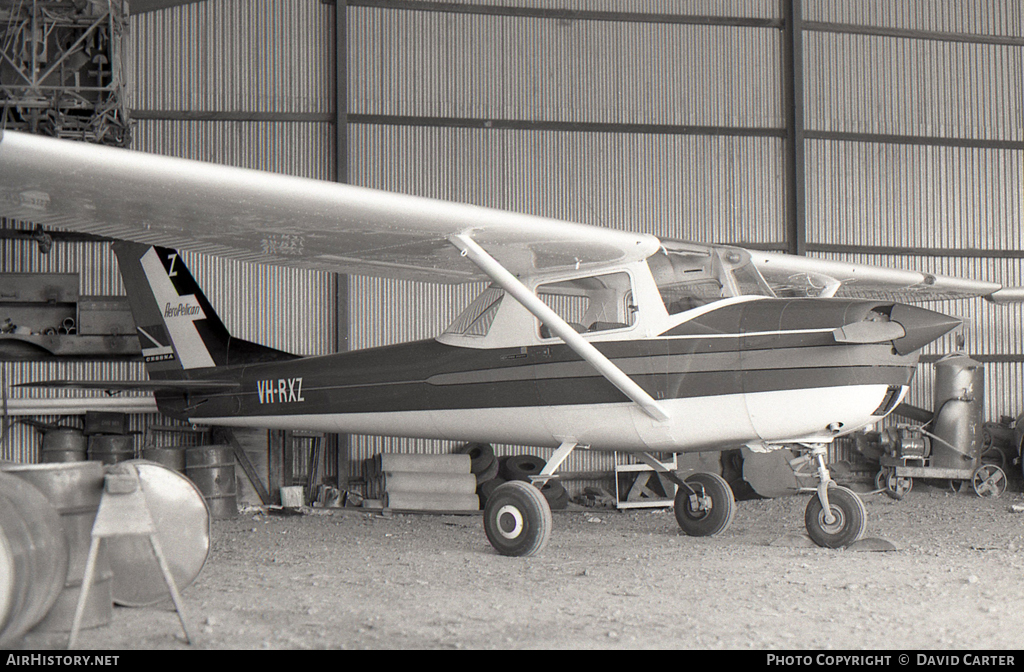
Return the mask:
{"type": "Polygon", "coordinates": [[[175,250],[114,244],[135,320],[142,358],[153,379],[185,371],[293,359],[287,352],[232,338],[175,250]]]}

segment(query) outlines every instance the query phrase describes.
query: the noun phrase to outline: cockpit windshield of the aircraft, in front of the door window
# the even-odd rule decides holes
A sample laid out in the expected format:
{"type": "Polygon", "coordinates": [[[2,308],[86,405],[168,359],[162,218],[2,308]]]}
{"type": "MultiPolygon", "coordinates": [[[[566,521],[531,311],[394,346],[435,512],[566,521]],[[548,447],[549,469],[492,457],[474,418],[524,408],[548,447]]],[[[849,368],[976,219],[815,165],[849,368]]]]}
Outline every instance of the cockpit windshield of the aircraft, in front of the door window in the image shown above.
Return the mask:
{"type": "Polygon", "coordinates": [[[663,248],[647,259],[669,314],[731,296],[770,296],[750,255],[738,248],[663,248]]]}

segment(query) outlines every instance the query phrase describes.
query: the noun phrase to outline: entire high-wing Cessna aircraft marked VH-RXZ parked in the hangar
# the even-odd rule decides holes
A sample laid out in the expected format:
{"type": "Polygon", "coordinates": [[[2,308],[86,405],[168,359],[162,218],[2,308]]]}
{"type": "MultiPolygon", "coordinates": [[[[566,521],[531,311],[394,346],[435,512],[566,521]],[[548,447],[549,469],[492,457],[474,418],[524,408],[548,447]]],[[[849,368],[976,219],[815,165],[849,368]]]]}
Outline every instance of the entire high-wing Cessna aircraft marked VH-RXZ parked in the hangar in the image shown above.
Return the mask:
{"type": "MultiPolygon", "coordinates": [[[[819,485],[806,524],[845,546],[864,507],[826,445],[878,422],[918,350],[959,321],[904,300],[999,285],[695,245],[331,182],[4,131],[0,215],[116,243],[150,381],[193,423],[652,454],[799,446],[819,485]],[[288,249],[283,237],[298,241],[288,249]],[[232,338],[174,249],[344,274],[490,281],[436,339],[296,356],[232,338]]],[[[52,381],[60,383],[61,381],[52,381]]],[[[719,475],[668,473],[684,533],[722,533],[719,475]],[[685,475],[685,474],[684,474],[685,475]]],[[[551,511],[535,485],[488,498],[507,555],[540,551],[551,511]]]]}

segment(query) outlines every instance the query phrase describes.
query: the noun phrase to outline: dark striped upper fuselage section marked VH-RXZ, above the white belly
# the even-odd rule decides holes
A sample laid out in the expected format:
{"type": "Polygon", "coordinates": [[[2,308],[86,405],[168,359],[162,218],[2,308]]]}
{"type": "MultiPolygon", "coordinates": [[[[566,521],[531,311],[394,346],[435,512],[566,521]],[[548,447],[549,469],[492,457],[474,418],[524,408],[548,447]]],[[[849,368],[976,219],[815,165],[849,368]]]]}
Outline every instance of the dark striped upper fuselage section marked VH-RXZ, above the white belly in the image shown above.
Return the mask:
{"type": "MultiPolygon", "coordinates": [[[[915,356],[896,355],[888,343],[840,344],[831,336],[830,329],[859,319],[876,302],[817,300],[816,311],[805,309],[809,305],[794,308],[795,303],[800,301],[725,306],[660,338],[595,345],[655,400],[909,382],[915,356]],[[765,304],[775,304],[774,310],[765,304]],[[757,308],[753,317],[748,314],[752,306],[757,308]],[[734,325],[731,334],[721,331],[729,324],[734,325]],[[766,333],[770,328],[777,333],[766,333]],[[735,336],[740,330],[754,335],[735,336]]],[[[223,378],[227,371],[218,368],[216,375],[223,378]]],[[[242,377],[241,394],[178,396],[176,415],[386,413],[627,401],[561,342],[471,349],[428,340],[236,371],[242,377]],[[193,408],[185,410],[186,405],[193,408]]],[[[166,405],[168,397],[161,401],[166,405]]]]}

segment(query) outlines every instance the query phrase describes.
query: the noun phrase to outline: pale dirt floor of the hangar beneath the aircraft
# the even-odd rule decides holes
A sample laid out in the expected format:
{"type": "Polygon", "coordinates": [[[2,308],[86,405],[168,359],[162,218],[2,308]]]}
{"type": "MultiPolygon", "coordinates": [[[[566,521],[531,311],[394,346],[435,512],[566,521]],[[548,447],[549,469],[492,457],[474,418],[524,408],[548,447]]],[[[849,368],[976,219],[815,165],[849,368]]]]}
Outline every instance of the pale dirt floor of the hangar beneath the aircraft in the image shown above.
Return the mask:
{"type": "MultiPolygon", "coordinates": [[[[183,597],[209,649],[1020,647],[1019,491],[864,500],[866,536],[896,551],[802,545],[807,496],[739,502],[715,539],[681,535],[671,510],[556,512],[531,558],[496,554],[479,516],[250,511],[214,522],[183,597]]],[[[163,607],[116,607],[79,646],[188,647],[163,607]]]]}

